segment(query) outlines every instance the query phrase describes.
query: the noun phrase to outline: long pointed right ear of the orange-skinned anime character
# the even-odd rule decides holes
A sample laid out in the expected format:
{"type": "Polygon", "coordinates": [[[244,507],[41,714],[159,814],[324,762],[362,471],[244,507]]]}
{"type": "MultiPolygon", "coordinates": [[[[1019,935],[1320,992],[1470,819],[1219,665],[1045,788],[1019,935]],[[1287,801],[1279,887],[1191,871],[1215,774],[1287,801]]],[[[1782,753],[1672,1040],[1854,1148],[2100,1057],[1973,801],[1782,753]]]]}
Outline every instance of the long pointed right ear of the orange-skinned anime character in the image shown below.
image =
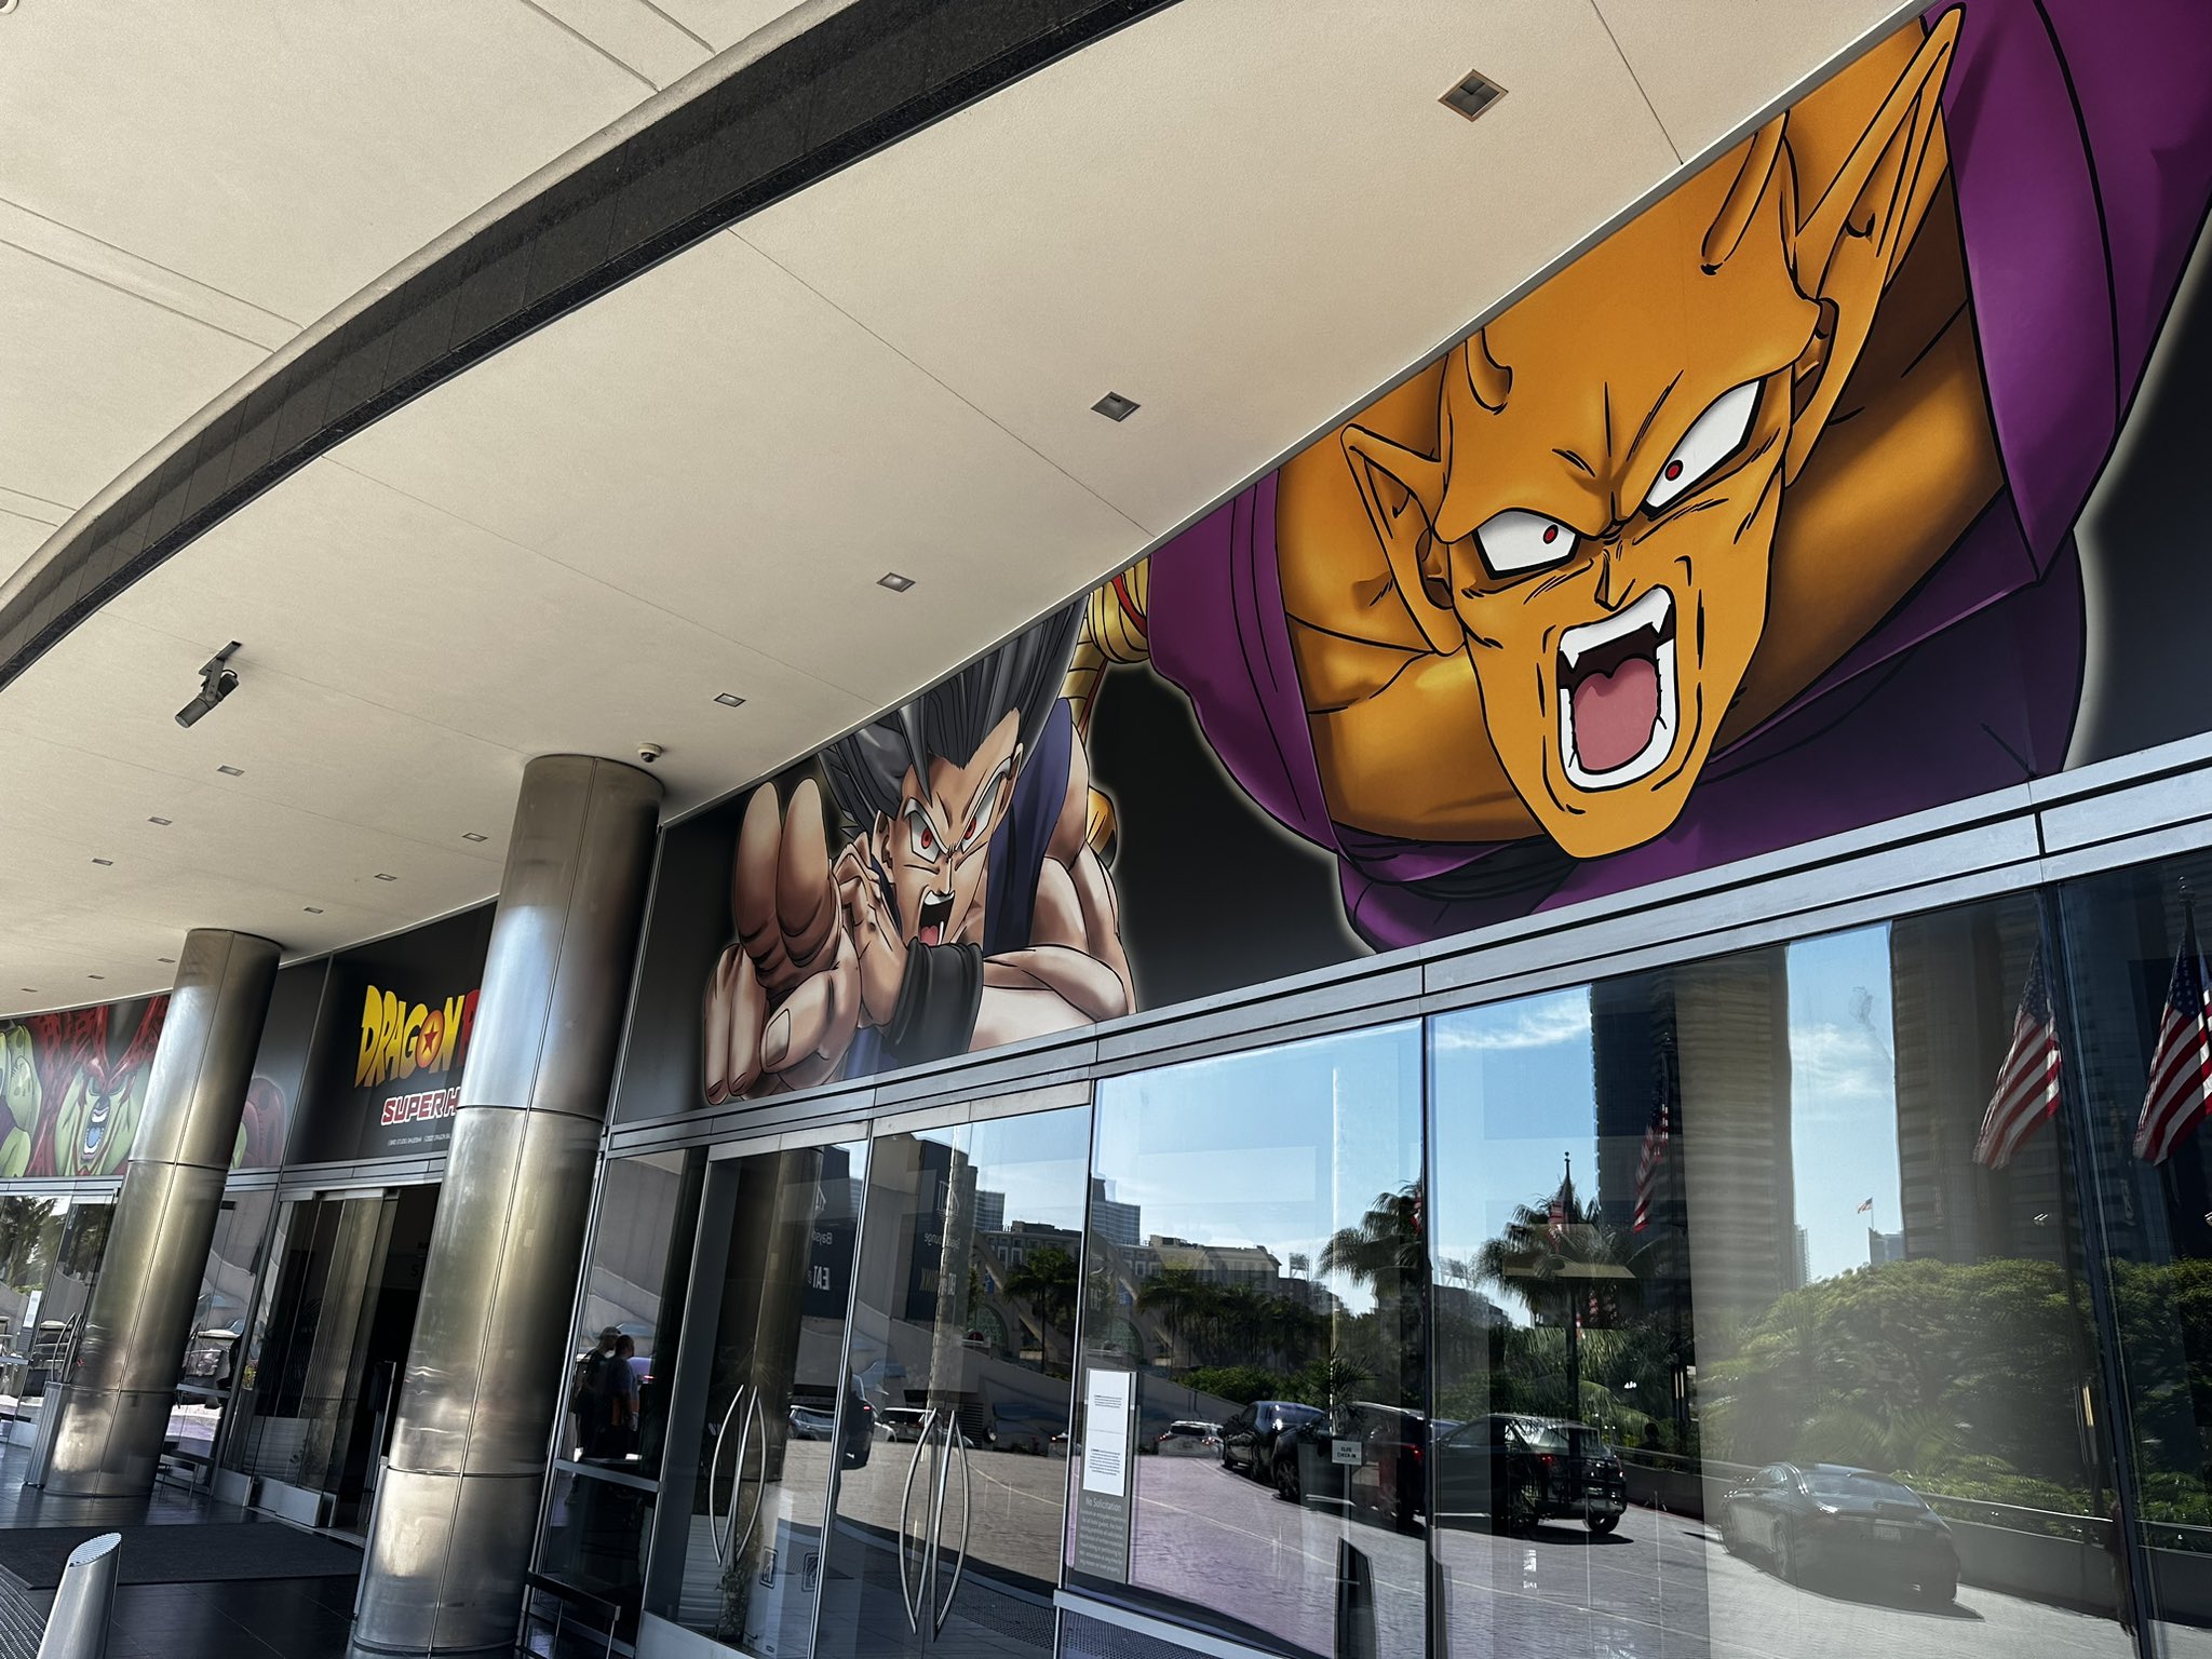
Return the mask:
{"type": "Polygon", "coordinates": [[[1796,365],[1785,478],[1796,478],[1836,409],[1843,383],[1874,330],[1882,290],[1913,246],[1929,201],[1949,173],[1936,104],[1964,13],[1953,7],[1913,53],[1867,124],[1836,181],[1805,215],[1790,246],[1798,290],[1820,303],[1820,325],[1796,365]]]}

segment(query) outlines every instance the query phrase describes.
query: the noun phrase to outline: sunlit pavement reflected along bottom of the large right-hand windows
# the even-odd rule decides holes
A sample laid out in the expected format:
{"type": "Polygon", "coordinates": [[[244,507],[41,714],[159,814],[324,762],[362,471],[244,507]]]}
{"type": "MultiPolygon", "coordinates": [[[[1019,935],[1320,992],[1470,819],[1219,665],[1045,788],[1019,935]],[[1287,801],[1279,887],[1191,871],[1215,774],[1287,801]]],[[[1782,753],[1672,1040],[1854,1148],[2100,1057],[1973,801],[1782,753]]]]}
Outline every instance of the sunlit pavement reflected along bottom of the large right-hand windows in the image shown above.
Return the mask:
{"type": "MultiPolygon", "coordinates": [[[[1334,1650],[1336,1537],[1376,1577],[1378,1655],[1422,1650],[1422,1540],[1294,1509],[1219,1464],[1144,1458],[1133,1577],[1259,1626],[1310,1652],[1334,1650]]],[[[1617,1533],[1546,1522],[1531,1537],[1447,1528],[1453,1659],[2126,1659],[2110,1619],[1964,1586],[1942,1610],[1834,1588],[1798,1588],[1721,1548],[1686,1515],[1630,1509],[1617,1533]]]]}

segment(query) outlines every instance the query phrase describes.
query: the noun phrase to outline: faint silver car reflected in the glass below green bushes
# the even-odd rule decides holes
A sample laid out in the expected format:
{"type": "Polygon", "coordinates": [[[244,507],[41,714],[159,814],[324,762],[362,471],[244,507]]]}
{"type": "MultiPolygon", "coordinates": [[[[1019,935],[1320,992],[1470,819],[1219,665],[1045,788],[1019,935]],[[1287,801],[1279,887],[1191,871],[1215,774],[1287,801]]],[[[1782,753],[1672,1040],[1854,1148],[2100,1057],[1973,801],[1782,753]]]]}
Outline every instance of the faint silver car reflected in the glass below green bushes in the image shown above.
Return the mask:
{"type": "Polygon", "coordinates": [[[1860,1575],[1933,1606],[1958,1595],[1951,1528],[1911,1486],[1871,1469],[1767,1464],[1721,1500],[1721,1540],[1759,1551],[1790,1584],[1860,1575]]]}

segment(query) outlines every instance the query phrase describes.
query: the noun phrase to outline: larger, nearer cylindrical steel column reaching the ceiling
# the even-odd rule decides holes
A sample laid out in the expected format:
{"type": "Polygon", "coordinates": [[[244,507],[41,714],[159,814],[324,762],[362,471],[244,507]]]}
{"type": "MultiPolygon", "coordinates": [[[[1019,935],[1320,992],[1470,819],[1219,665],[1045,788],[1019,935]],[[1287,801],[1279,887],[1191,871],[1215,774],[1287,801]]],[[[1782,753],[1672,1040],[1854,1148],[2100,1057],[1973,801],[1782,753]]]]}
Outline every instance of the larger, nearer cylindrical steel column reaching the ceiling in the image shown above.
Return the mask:
{"type": "Polygon", "coordinates": [[[522,774],[356,1652],[513,1646],[659,801],[582,754],[522,774]]]}

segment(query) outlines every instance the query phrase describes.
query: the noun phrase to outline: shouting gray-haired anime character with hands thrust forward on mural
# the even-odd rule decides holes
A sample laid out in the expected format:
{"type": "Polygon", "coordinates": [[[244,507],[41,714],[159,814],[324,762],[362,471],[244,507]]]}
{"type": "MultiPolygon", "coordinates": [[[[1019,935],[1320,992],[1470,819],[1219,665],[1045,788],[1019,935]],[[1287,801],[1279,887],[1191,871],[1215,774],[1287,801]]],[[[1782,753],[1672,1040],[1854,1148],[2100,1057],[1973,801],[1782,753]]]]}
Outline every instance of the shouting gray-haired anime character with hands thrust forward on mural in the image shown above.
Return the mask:
{"type": "Polygon", "coordinates": [[[1091,768],[1060,692],[1066,606],[763,785],[739,830],[737,940],[706,1006],[710,1102],[1110,1020],[1133,1006],[1086,845],[1091,768]]]}

